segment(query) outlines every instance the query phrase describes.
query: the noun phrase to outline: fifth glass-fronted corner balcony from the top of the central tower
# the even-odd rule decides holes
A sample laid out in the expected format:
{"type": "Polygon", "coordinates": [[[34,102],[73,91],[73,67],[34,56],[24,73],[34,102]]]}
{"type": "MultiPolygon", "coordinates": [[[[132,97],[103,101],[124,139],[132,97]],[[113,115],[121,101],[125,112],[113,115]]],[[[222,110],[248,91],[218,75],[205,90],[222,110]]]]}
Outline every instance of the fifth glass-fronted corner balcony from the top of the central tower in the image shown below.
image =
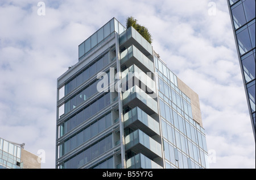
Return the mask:
{"type": "Polygon", "coordinates": [[[123,115],[123,119],[125,128],[130,127],[134,130],[141,129],[149,136],[160,135],[159,123],[139,107],[135,107],[133,110],[123,115]]]}

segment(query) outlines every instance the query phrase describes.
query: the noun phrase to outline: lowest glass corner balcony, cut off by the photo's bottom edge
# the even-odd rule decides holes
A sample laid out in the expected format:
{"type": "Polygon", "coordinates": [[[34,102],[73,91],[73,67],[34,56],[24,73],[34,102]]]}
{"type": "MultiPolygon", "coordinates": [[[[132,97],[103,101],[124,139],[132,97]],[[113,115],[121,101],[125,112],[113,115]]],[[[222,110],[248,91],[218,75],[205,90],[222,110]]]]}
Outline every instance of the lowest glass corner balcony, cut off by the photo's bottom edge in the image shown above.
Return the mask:
{"type": "Polygon", "coordinates": [[[150,160],[150,158],[147,158],[141,153],[127,160],[126,168],[127,169],[163,169],[162,166],[156,164],[154,161],[150,160]]]}

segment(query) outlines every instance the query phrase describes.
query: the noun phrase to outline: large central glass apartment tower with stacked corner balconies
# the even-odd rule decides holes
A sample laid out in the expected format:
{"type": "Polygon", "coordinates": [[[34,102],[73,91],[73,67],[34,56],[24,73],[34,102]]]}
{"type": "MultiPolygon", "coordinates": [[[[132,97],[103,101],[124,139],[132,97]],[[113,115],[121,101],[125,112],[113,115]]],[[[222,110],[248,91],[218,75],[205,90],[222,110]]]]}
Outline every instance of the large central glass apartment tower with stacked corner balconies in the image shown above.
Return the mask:
{"type": "Polygon", "coordinates": [[[57,79],[57,169],[208,168],[198,95],[113,18],[57,79]]]}

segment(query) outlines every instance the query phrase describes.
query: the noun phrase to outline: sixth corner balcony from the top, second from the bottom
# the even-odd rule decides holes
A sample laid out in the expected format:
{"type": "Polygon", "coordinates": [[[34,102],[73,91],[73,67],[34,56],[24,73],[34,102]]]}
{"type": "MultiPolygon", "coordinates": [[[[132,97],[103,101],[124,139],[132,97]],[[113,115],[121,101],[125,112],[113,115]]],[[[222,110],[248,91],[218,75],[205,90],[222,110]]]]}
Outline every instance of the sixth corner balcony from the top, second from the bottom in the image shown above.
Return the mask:
{"type": "Polygon", "coordinates": [[[125,150],[143,153],[150,159],[162,157],[161,144],[139,129],[125,137],[125,150]]]}

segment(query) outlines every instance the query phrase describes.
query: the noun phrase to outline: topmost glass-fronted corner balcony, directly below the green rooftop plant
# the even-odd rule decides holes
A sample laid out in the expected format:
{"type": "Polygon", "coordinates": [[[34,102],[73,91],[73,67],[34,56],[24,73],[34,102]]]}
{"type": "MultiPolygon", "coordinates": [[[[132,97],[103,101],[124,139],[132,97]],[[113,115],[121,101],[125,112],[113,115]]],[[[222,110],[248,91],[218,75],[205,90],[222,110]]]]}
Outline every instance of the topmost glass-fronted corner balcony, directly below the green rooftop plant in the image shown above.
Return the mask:
{"type": "MultiPolygon", "coordinates": [[[[153,58],[152,45],[148,43],[138,31],[133,27],[129,27],[126,31],[119,35],[119,45],[120,49],[127,49],[131,45],[135,45],[145,56],[150,56],[153,58]]],[[[153,59],[152,59],[153,60],[153,59]]]]}

